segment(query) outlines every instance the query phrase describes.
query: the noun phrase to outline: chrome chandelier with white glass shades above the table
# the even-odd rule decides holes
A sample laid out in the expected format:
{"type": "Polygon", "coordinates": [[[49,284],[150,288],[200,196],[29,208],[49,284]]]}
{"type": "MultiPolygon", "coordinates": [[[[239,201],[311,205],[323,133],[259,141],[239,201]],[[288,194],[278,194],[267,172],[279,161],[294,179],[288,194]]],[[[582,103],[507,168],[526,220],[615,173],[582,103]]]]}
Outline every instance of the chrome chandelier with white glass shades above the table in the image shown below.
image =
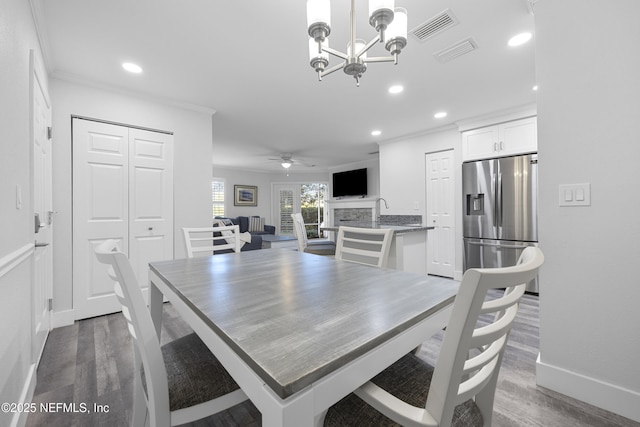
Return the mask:
{"type": "Polygon", "coordinates": [[[369,24],[378,32],[369,43],[356,38],[355,0],[351,0],[351,37],[347,44],[347,53],[329,47],[331,33],[330,0],[307,0],[307,25],[309,29],[309,60],[311,67],[318,73],[318,80],[340,69],[356,79],[367,71],[369,62],[398,63],[398,55],[407,45],[407,11],[394,7],[394,0],[369,0],[369,24]],[[376,43],[384,43],[390,56],[368,57],[367,51],[376,43]],[[355,48],[354,48],[355,46],[355,48]],[[331,68],[329,54],[342,58],[341,64],[331,68]]]}

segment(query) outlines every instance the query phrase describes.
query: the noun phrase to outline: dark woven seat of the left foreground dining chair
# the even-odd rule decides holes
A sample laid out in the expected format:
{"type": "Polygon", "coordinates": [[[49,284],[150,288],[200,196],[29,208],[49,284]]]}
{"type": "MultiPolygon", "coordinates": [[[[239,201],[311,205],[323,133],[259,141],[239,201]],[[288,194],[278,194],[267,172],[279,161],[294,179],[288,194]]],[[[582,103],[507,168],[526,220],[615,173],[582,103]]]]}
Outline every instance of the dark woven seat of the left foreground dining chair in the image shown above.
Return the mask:
{"type": "MultiPolygon", "coordinates": [[[[195,334],[162,346],[171,411],[223,396],[240,387],[195,334]]],[[[144,372],[142,372],[143,384],[144,372]]]]}

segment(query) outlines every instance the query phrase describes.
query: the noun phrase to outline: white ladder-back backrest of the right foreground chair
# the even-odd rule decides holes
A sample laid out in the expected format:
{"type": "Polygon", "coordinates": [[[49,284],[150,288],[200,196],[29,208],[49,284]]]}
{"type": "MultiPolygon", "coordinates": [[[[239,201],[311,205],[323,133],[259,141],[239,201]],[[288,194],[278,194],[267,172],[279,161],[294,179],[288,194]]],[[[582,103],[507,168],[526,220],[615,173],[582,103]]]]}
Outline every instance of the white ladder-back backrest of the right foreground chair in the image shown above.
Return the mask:
{"type": "Polygon", "coordinates": [[[465,272],[436,362],[426,410],[449,426],[456,405],[475,396],[491,425],[498,371],[511,325],[526,284],[544,262],[542,251],[526,248],[512,267],[469,269],[465,272]],[[496,299],[489,289],[504,288],[496,299]]]}

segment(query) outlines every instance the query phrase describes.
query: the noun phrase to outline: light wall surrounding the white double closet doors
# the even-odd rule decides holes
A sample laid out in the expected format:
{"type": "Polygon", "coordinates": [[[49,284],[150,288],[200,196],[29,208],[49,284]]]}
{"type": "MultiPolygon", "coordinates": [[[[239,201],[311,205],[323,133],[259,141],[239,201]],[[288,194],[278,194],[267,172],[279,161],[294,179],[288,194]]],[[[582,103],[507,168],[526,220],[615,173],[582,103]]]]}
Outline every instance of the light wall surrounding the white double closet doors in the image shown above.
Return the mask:
{"type": "Polygon", "coordinates": [[[71,116],[173,132],[174,248],[184,257],[181,228],[211,223],[212,112],[193,111],[62,80],[51,80],[53,100],[54,312],[72,315],[71,116]]]}

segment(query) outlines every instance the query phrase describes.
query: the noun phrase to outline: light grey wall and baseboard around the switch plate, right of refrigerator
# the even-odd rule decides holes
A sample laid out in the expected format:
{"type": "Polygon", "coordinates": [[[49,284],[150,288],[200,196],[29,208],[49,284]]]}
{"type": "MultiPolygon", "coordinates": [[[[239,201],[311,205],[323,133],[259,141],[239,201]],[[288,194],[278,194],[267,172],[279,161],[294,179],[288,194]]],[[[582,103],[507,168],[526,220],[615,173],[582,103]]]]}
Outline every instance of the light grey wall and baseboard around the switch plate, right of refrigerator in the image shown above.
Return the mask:
{"type": "Polygon", "coordinates": [[[536,3],[538,383],[640,421],[640,2],[536,3]],[[590,207],[558,186],[591,184],[590,207]]]}

